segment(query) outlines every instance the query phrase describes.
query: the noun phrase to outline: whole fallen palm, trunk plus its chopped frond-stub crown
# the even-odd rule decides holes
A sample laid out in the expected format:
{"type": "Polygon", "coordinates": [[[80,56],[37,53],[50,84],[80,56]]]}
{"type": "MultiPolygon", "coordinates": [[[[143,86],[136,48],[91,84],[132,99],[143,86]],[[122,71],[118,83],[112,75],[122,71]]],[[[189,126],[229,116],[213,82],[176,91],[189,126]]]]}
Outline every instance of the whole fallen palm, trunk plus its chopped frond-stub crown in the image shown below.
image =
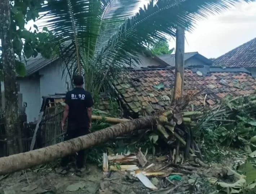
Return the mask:
{"type": "MultiPolygon", "coordinates": [[[[81,149],[106,142],[107,140],[119,135],[145,128],[156,129],[157,133],[160,134],[160,136],[166,141],[168,145],[171,144],[171,138],[176,137],[184,146],[188,145],[186,147],[190,153],[194,153],[193,149],[190,149],[190,143],[188,144],[184,139],[182,139],[184,134],[190,134],[190,130],[184,127],[184,122],[189,122],[190,118],[182,117],[184,113],[181,113],[180,109],[181,106],[177,105],[170,107],[168,111],[158,112],[154,116],[146,116],[139,119],[119,123],[94,133],[71,139],[66,142],[58,143],[53,146],[37,149],[30,152],[19,153],[8,157],[2,157],[0,158],[0,174],[23,170],[42,163],[50,162],[56,160],[57,158],[62,158],[69,154],[74,154],[81,149]],[[169,130],[168,133],[166,130],[169,130]]],[[[191,113],[186,113],[186,115],[191,115],[191,113]]],[[[104,118],[97,117],[97,119],[104,118]]],[[[118,121],[122,122],[125,120],[119,119],[118,121]]],[[[187,139],[191,139],[191,137],[192,136],[189,135],[187,139]]]]}

